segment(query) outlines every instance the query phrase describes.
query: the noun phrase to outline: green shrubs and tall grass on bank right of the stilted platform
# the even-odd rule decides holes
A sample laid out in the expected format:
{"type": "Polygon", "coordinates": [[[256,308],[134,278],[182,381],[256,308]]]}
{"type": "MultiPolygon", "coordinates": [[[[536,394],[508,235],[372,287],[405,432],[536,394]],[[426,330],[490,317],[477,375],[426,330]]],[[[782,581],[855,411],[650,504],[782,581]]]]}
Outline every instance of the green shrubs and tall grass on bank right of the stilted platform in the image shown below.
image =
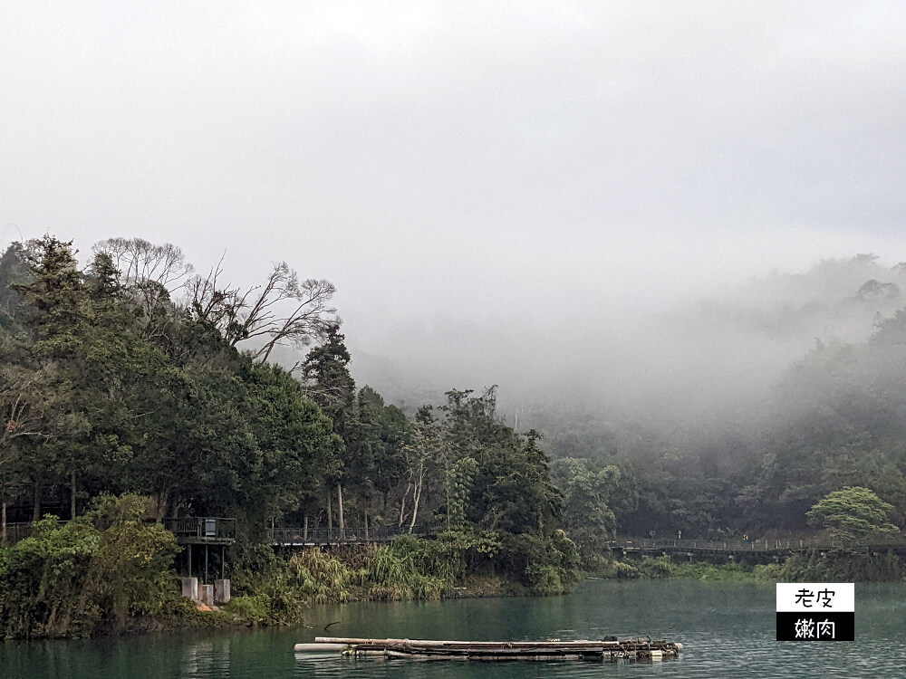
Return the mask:
{"type": "Polygon", "coordinates": [[[497,581],[496,591],[499,578],[506,578],[514,592],[559,594],[577,581],[577,562],[575,545],[563,531],[546,540],[529,534],[446,531],[432,540],[404,535],[342,556],[303,550],[275,559],[264,573],[236,573],[236,592],[246,598],[266,596],[266,615],[261,615],[261,603],[247,616],[255,622],[291,624],[300,622],[313,603],[457,597],[476,578],[485,584],[497,581]]]}

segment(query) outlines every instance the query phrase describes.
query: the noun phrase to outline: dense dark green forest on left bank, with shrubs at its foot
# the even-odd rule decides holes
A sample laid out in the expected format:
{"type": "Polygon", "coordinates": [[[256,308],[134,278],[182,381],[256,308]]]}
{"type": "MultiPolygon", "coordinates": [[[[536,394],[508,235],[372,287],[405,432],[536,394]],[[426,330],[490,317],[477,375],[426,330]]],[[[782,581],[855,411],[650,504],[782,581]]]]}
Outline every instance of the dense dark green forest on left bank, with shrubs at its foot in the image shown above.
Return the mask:
{"type": "MultiPolygon", "coordinates": [[[[243,571],[272,574],[236,604],[253,617],[265,603],[268,619],[297,615],[290,592],[296,603],[347,585],[370,597],[428,597],[477,571],[539,593],[572,586],[563,494],[537,436],[496,415],[494,389],[450,391],[446,405],[410,419],[356,387],[329,282],[300,281],[285,263],[246,292],[222,279],[219,270],[194,275],[173,245],[140,239],[95,245],[81,270],[72,244],[49,235],[0,257],[4,535],[7,513],[22,521],[25,507],[34,521],[48,505],[72,519],[39,522],[36,542],[0,552],[11,574],[7,634],[79,632],[145,611],[116,579],[107,532],[98,538],[84,518],[108,494],[149,498],[148,521],[236,517],[238,582],[243,571]],[[309,346],[290,368],[268,360],[280,347],[309,346]],[[275,523],[419,525],[440,537],[381,548],[347,581],[312,555],[277,563],[265,540],[275,523]],[[38,546],[45,560],[25,563],[38,546]],[[65,581],[48,579],[62,568],[54,559],[68,559],[65,581]],[[40,591],[26,586],[34,573],[40,591]],[[97,593],[105,603],[73,608],[88,576],[111,591],[97,593]]],[[[155,573],[173,556],[158,545],[155,573]]],[[[162,582],[144,577],[148,587],[162,582]]]]}

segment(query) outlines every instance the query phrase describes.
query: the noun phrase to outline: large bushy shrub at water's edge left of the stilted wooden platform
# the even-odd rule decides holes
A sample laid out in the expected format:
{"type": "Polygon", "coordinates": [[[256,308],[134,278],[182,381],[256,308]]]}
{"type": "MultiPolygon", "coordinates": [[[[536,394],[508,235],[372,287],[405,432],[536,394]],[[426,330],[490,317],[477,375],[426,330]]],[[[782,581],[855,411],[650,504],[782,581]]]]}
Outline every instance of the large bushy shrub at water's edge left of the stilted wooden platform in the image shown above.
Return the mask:
{"type": "Polygon", "coordinates": [[[176,538],[143,523],[146,503],[102,496],[84,516],[60,525],[48,515],[34,536],[0,550],[3,636],[120,631],[130,617],[172,610],[176,538]]]}

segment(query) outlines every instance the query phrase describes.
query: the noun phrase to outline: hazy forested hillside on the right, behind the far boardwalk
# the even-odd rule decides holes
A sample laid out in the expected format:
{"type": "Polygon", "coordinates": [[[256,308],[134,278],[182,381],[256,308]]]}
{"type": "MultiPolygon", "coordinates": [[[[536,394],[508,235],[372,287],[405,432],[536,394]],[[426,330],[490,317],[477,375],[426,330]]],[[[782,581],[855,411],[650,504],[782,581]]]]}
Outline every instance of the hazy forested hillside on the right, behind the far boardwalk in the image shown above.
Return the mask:
{"type": "MultiPolygon", "coordinates": [[[[839,550],[793,559],[787,573],[899,577],[891,566],[899,560],[884,548],[902,545],[906,528],[906,310],[896,311],[904,297],[895,283],[903,271],[858,255],[789,277],[789,301],[775,308],[706,308],[701,322],[729,318],[752,336],[801,335],[816,323],[843,331],[839,319],[864,326],[849,330],[867,339],[814,339],[745,411],[690,420],[521,406],[521,421],[544,434],[585,567],[595,568],[613,534],[776,537],[839,550]]],[[[688,397],[697,397],[691,385],[688,397]]]]}

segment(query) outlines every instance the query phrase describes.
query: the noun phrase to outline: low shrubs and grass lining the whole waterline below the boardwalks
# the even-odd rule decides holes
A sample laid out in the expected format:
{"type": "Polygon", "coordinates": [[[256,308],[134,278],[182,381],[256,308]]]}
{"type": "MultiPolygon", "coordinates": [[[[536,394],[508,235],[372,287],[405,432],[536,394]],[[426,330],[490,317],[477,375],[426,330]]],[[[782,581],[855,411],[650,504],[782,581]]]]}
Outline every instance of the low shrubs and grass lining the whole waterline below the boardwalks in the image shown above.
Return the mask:
{"type": "MultiPolygon", "coordinates": [[[[128,634],[187,627],[304,625],[315,604],[568,594],[581,579],[697,579],[724,582],[903,580],[892,552],[805,552],[785,563],[714,564],[669,556],[573,560],[568,569],[501,574],[493,534],[402,536],[370,547],[270,552],[257,569],[231,573],[236,596],[202,607],[178,591],[176,538],[145,520],[149,501],[105,496],[59,524],[48,516],[33,537],[0,549],[0,623],[6,639],[128,634]],[[562,573],[568,573],[562,578],[562,573]]],[[[565,535],[562,540],[569,542],[565,535]]],[[[537,545],[536,545],[537,547],[537,545]]],[[[512,549],[512,547],[511,547],[512,549]]],[[[561,555],[562,558],[562,555],[561,555]]],[[[563,564],[561,563],[561,566],[563,564]]]]}

